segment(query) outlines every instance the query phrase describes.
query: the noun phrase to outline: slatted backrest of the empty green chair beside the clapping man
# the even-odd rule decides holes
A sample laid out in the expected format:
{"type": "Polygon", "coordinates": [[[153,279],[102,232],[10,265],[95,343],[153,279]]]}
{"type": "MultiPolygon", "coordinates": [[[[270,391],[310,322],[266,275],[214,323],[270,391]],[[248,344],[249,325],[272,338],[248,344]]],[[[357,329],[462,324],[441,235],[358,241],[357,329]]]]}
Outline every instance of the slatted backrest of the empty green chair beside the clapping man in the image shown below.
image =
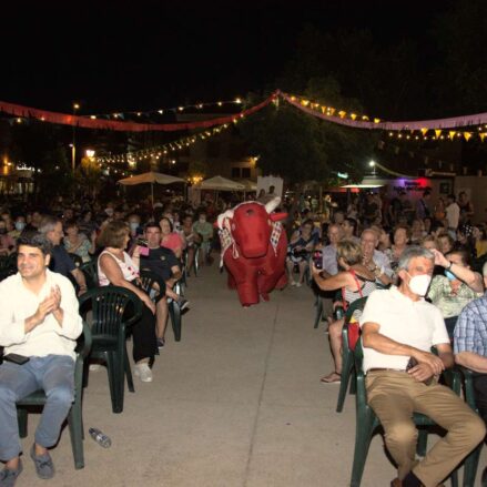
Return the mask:
{"type": "Polygon", "coordinates": [[[142,302],[132,291],[119,286],[89,290],[80,296],[80,314],[92,313],[93,336],[118,336],[142,316],[142,302]]]}

